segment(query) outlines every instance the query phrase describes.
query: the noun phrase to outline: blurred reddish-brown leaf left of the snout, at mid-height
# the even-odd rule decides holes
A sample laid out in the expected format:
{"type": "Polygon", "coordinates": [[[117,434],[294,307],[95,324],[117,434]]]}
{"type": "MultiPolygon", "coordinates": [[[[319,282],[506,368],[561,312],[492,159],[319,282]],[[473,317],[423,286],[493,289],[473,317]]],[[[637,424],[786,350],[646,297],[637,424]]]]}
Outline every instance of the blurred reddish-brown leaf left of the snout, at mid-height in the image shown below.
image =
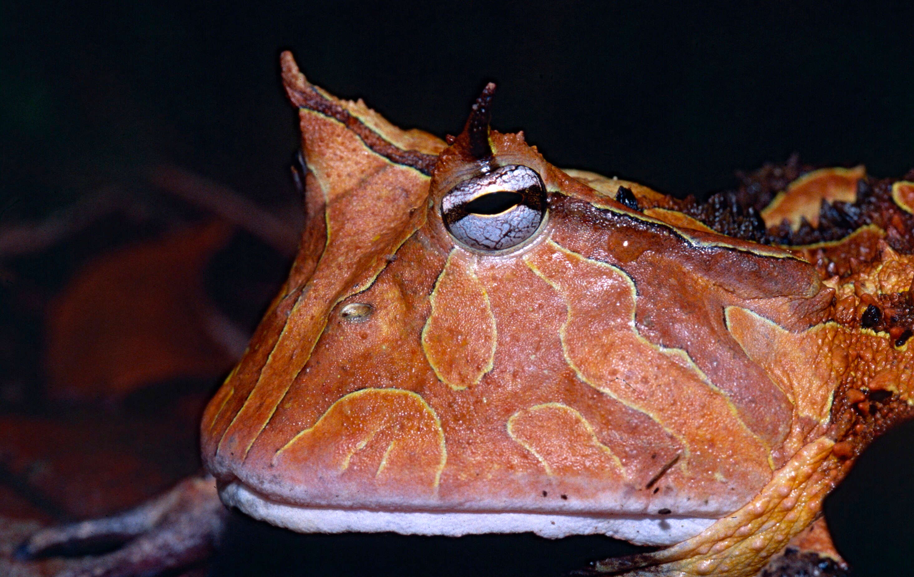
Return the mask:
{"type": "Polygon", "coordinates": [[[211,222],[83,267],[48,309],[49,395],[117,400],[143,385],[227,371],[238,338],[224,334],[204,272],[230,233],[211,222]]]}

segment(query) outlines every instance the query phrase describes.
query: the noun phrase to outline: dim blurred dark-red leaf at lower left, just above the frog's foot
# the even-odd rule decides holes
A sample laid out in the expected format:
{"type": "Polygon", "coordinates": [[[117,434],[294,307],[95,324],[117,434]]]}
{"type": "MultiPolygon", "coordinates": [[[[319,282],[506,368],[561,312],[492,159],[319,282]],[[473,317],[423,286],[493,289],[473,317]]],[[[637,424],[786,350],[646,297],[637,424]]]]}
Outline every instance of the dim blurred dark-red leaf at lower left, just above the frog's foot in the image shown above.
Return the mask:
{"type": "MultiPolygon", "coordinates": [[[[0,417],[5,480],[15,479],[16,495],[60,519],[108,515],[152,497],[198,467],[196,449],[186,419],[0,417]]],[[[23,507],[2,514],[22,517],[23,507]]]]}

